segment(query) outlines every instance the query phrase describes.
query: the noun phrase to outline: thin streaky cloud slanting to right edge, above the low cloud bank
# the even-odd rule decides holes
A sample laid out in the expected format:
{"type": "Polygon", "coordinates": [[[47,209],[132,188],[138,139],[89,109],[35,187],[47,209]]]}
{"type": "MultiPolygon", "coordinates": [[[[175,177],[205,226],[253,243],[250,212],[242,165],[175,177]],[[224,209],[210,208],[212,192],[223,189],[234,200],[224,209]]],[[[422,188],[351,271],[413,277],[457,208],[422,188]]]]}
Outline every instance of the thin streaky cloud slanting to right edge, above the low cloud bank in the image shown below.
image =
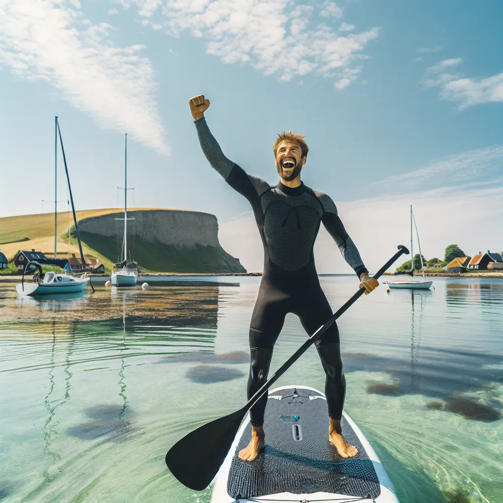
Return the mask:
{"type": "Polygon", "coordinates": [[[461,185],[503,171],[503,145],[468,150],[447,156],[428,166],[388,177],[374,184],[382,191],[403,192],[461,185]]]}

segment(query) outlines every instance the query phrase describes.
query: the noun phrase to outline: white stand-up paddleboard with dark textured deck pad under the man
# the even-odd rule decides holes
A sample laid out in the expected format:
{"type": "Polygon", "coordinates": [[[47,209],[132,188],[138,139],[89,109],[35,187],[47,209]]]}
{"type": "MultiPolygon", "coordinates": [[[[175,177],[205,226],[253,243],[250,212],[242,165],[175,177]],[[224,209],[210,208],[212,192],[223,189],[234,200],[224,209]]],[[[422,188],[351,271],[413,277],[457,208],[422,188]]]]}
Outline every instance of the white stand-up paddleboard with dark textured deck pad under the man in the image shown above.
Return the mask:
{"type": "Polygon", "coordinates": [[[346,413],[341,426],[344,438],[358,449],[354,458],[342,458],[328,442],[323,393],[307,386],[269,391],[265,449],[254,461],[238,458],[251,438],[251,425],[244,422],[215,478],[211,503],[398,503],[379,458],[346,413]]]}

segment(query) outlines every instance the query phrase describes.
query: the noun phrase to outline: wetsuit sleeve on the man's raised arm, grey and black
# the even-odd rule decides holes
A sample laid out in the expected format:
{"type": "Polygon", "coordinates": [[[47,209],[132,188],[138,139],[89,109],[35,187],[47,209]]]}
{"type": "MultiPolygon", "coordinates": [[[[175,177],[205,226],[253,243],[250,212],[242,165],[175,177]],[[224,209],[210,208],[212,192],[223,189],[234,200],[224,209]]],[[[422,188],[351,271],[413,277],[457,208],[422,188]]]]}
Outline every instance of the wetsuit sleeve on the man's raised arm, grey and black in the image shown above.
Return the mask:
{"type": "MultiPolygon", "coordinates": [[[[211,134],[206,119],[194,121],[199,143],[211,167],[239,194],[242,194],[256,209],[260,205],[260,196],[271,186],[259,177],[248,175],[235,162],[228,159],[217,140],[211,134]]],[[[258,209],[258,208],[257,208],[258,209]]]]}

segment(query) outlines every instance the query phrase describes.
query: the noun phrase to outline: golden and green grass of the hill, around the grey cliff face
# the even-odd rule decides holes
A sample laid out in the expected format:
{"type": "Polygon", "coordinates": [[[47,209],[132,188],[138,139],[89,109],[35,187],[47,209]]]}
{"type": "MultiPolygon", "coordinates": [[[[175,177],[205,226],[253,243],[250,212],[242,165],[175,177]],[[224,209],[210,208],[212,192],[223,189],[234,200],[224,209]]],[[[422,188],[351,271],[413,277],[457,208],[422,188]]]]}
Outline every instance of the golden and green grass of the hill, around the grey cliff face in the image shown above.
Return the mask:
{"type": "MultiPolygon", "coordinates": [[[[131,208],[133,211],[158,208],[131,208]]],[[[108,213],[120,212],[120,208],[77,211],[77,221],[108,213]]],[[[68,229],[73,226],[71,212],[58,213],[58,258],[67,258],[74,253],[79,255],[77,241],[68,242],[68,229]]],[[[82,232],[82,250],[87,257],[99,258],[110,270],[117,261],[121,248],[119,239],[82,232]]],[[[122,241],[122,237],[120,238],[122,241]]],[[[178,249],[161,243],[151,243],[138,236],[128,238],[133,259],[145,272],[244,272],[236,260],[221,247],[197,246],[193,249],[178,249]],[[237,269],[236,269],[237,268],[237,269]],[[242,271],[240,271],[242,270],[242,271]]],[[[0,251],[11,260],[18,250],[35,248],[46,256],[54,255],[54,213],[21,215],[0,218],[0,251]]],[[[128,246],[129,248],[129,246],[128,246]]]]}

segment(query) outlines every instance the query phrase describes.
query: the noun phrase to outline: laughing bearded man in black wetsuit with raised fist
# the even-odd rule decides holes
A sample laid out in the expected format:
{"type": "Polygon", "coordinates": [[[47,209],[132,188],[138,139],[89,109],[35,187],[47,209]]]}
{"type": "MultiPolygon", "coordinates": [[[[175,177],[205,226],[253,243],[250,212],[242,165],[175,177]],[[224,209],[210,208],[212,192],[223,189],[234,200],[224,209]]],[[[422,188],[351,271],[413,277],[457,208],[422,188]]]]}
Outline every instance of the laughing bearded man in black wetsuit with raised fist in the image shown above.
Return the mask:
{"type": "MultiPolygon", "coordinates": [[[[300,173],[309,150],[301,134],[289,131],[278,135],[273,150],[280,182],[270,186],[246,174],[225,157],[204,118],[209,100],[203,95],[196,96],[189,100],[189,106],[206,158],[225,181],[250,202],[264,244],[264,273],[249,328],[249,399],[267,380],[273,347],[286,314],[297,314],[309,335],[332,315],[314,266],[313,246],[321,222],[359,276],[365,294],[374,290],[378,282],[369,278],[333,201],[301,182],[300,173]]],[[[315,345],[326,374],[329,441],[343,458],[353,457],[358,450],[346,442],[341,430],[346,380],[337,324],[333,323],[315,345]]],[[[264,445],[266,404],[267,393],[250,409],[251,441],[239,452],[242,460],[254,460],[264,445]]]]}

